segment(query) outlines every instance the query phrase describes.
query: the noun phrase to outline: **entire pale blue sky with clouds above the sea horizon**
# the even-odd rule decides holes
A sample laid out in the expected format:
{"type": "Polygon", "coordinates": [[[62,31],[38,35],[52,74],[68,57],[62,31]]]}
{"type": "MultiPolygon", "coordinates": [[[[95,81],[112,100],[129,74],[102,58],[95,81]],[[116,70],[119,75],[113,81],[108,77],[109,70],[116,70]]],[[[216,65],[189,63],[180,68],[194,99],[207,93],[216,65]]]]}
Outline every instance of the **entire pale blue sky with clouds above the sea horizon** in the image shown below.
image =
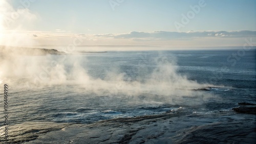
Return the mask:
{"type": "Polygon", "coordinates": [[[2,45],[13,39],[24,45],[162,47],[256,41],[254,0],[2,0],[0,8],[2,45]]]}

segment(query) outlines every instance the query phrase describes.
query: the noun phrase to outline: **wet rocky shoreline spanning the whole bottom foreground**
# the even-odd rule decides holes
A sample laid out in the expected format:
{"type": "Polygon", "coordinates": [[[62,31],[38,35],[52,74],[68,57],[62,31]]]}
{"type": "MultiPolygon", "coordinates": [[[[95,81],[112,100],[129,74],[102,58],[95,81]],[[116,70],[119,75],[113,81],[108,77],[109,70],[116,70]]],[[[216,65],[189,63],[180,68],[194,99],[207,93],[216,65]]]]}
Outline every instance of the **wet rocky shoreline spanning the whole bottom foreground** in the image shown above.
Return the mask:
{"type": "Polygon", "coordinates": [[[12,126],[5,143],[254,143],[255,129],[253,114],[169,112],[88,125],[27,122],[12,126]]]}

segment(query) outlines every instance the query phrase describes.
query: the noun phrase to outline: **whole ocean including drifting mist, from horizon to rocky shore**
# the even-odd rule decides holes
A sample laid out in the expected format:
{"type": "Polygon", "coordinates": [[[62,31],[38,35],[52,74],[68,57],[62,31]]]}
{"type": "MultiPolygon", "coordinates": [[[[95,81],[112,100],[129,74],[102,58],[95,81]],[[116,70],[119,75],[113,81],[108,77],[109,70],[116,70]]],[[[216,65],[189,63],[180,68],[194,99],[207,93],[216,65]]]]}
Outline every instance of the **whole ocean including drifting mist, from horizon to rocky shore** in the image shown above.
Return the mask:
{"type": "Polygon", "coordinates": [[[8,85],[9,138],[28,123],[89,125],[166,112],[210,119],[238,103],[256,104],[256,49],[235,48],[18,57],[0,77],[0,90],[8,85]]]}

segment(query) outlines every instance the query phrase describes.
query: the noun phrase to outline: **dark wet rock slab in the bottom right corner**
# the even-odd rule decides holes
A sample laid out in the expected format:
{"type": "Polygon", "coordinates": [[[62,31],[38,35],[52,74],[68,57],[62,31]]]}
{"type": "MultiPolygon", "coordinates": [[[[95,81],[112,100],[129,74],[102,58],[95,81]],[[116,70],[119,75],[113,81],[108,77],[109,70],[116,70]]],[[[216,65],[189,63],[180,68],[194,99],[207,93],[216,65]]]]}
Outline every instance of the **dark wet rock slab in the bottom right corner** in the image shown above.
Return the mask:
{"type": "Polygon", "coordinates": [[[175,142],[185,143],[255,143],[255,126],[246,122],[212,123],[182,130],[175,142]]]}

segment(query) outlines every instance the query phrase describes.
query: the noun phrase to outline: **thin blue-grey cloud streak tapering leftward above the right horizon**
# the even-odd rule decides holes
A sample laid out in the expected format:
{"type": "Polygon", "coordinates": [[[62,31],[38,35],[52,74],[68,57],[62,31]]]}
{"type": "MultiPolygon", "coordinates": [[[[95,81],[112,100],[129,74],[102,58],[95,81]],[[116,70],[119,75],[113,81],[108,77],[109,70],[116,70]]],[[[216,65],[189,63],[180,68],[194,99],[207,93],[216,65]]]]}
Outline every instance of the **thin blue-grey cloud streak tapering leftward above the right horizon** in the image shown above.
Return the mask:
{"type": "Polygon", "coordinates": [[[238,37],[255,37],[256,31],[189,31],[189,32],[166,32],[166,31],[156,31],[156,32],[131,32],[127,34],[103,34],[95,35],[97,37],[113,37],[113,38],[134,38],[139,39],[158,39],[158,40],[168,40],[168,39],[187,39],[187,38],[200,38],[200,37],[228,37],[228,38],[238,38],[238,37]]]}

